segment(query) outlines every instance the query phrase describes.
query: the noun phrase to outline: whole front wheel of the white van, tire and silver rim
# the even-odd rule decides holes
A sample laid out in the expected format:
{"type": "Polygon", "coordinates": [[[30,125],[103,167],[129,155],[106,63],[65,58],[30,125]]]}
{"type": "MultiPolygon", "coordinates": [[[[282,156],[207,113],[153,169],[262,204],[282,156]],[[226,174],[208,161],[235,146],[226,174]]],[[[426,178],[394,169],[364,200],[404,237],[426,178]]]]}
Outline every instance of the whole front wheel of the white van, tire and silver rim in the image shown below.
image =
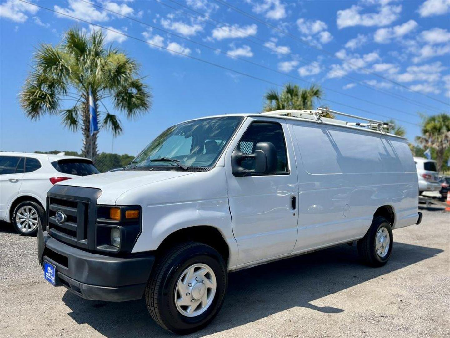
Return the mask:
{"type": "Polygon", "coordinates": [[[220,253],[208,245],[189,242],[159,260],[147,283],[145,300],[157,324],[186,334],[214,319],[226,287],[227,269],[220,253]]]}

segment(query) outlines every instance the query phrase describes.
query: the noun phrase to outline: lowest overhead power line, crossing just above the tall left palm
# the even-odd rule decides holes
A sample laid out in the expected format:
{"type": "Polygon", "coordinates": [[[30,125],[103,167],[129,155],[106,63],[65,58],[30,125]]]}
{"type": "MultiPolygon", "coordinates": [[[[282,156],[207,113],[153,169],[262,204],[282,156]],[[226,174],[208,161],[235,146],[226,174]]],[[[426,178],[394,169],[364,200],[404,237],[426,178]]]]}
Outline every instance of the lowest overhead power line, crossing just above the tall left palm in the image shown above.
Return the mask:
{"type": "MultiPolygon", "coordinates": [[[[132,35],[130,35],[130,34],[126,34],[126,33],[124,33],[124,32],[120,32],[120,31],[117,31],[117,30],[112,29],[112,28],[109,28],[109,27],[105,27],[105,26],[102,26],[102,25],[99,25],[99,24],[96,24],[96,23],[92,23],[92,22],[90,22],[90,21],[87,21],[87,20],[84,20],[84,19],[81,19],[81,18],[77,18],[77,17],[75,17],[75,16],[73,16],[73,15],[70,15],[70,14],[62,13],[62,12],[59,12],[59,11],[57,11],[57,10],[54,10],[54,9],[51,9],[51,8],[48,8],[48,7],[45,7],[45,6],[42,6],[42,5],[37,5],[37,4],[34,4],[34,3],[32,3],[32,2],[28,2],[28,1],[26,1],[26,0],[19,0],[19,1],[21,1],[21,2],[23,2],[23,3],[26,3],[26,4],[29,4],[29,5],[33,5],[33,6],[36,6],[36,7],[45,9],[45,10],[48,10],[48,11],[50,11],[50,12],[57,13],[57,14],[59,14],[59,15],[66,16],[66,17],[68,17],[68,18],[72,18],[72,19],[75,19],[75,20],[79,20],[79,21],[81,21],[81,22],[84,22],[84,23],[87,23],[87,24],[90,24],[90,25],[93,25],[93,26],[96,26],[96,27],[100,27],[100,28],[102,28],[102,29],[104,29],[104,30],[107,30],[107,31],[110,31],[110,32],[114,32],[114,33],[123,35],[123,36],[125,36],[125,37],[129,37],[130,39],[133,39],[133,40],[136,40],[136,41],[144,42],[144,43],[147,44],[147,45],[154,46],[154,47],[157,47],[157,48],[160,48],[160,49],[163,49],[163,50],[167,50],[167,51],[169,51],[170,53],[182,55],[182,56],[185,56],[185,57],[187,57],[187,58],[194,59],[194,60],[203,62],[203,63],[205,63],[205,64],[209,64],[209,65],[211,65],[211,66],[214,66],[214,67],[217,67],[217,68],[220,68],[220,69],[225,69],[225,70],[228,70],[228,71],[230,71],[230,72],[233,72],[233,73],[237,73],[237,74],[239,74],[239,75],[246,76],[246,77],[248,77],[248,78],[252,78],[252,79],[255,79],[255,80],[258,80],[258,81],[266,82],[266,83],[269,83],[269,84],[274,85],[274,86],[283,87],[283,85],[281,85],[281,84],[279,84],[279,83],[275,83],[275,82],[272,82],[272,81],[269,81],[269,80],[266,80],[266,79],[263,79],[263,78],[259,78],[259,77],[253,76],[253,75],[251,75],[251,74],[243,73],[243,72],[240,72],[240,71],[238,71],[238,70],[231,69],[231,68],[229,68],[229,67],[225,67],[225,66],[222,66],[222,65],[220,65],[220,64],[216,64],[216,63],[207,61],[207,60],[205,60],[205,59],[200,59],[200,58],[195,57],[195,56],[192,56],[192,55],[188,55],[188,54],[184,54],[184,53],[178,52],[178,51],[176,51],[176,50],[171,50],[171,49],[166,48],[166,47],[164,47],[164,46],[160,46],[160,45],[154,44],[154,43],[152,43],[152,42],[145,41],[145,40],[143,40],[143,39],[141,39],[141,38],[139,38],[139,37],[134,37],[134,36],[132,36],[132,35]]],[[[328,101],[329,101],[329,102],[336,103],[336,104],[339,104],[339,105],[345,105],[345,106],[348,106],[348,107],[351,107],[351,108],[353,108],[353,109],[360,110],[360,111],[363,111],[363,112],[366,112],[366,113],[369,113],[369,114],[382,116],[382,117],[384,117],[384,118],[389,118],[389,119],[392,118],[392,117],[387,116],[387,115],[382,115],[382,114],[374,113],[374,112],[369,111],[369,110],[363,110],[363,109],[360,109],[360,108],[357,108],[357,107],[352,107],[352,106],[349,106],[349,105],[346,105],[346,104],[343,104],[343,103],[340,103],[340,102],[337,102],[337,101],[331,101],[331,100],[328,100],[328,101]]],[[[413,125],[419,126],[419,124],[412,123],[412,122],[409,122],[409,121],[405,121],[405,120],[401,120],[401,119],[395,119],[395,120],[400,121],[400,122],[403,122],[403,123],[409,123],[409,124],[413,124],[413,125]]]]}

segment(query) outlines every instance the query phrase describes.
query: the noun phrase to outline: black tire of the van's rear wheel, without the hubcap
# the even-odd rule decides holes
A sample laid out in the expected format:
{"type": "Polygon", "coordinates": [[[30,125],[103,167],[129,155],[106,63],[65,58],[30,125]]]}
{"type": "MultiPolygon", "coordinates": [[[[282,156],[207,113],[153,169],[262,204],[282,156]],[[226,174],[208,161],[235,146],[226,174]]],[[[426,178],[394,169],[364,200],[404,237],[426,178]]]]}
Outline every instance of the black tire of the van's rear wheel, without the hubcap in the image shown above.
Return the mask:
{"type": "Polygon", "coordinates": [[[369,266],[379,267],[387,263],[392,255],[394,237],[392,235],[391,224],[383,216],[375,217],[372,225],[363,238],[358,241],[358,252],[363,263],[369,266]],[[381,228],[385,228],[389,234],[389,247],[384,256],[380,256],[375,245],[377,233],[381,228]]]}

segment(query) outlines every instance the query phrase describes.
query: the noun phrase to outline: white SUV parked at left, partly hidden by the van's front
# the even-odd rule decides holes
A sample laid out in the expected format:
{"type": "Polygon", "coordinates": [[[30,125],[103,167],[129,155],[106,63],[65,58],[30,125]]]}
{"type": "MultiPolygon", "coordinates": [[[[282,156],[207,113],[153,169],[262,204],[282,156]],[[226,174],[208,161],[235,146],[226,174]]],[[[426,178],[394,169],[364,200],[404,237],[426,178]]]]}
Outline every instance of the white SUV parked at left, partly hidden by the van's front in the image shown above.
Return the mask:
{"type": "Polygon", "coordinates": [[[0,153],[0,220],[24,236],[37,233],[45,217],[47,192],[57,182],[98,174],[82,157],[18,152],[0,153]]]}

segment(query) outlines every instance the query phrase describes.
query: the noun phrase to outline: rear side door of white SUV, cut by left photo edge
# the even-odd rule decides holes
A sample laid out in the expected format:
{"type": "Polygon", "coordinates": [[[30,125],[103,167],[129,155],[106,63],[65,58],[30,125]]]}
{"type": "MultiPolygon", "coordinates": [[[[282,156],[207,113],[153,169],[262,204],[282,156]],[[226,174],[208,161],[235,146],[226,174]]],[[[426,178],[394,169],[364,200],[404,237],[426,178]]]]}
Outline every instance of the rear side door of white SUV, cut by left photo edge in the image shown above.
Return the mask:
{"type": "Polygon", "coordinates": [[[23,169],[23,157],[0,156],[0,220],[5,219],[9,204],[19,193],[23,169]]]}

